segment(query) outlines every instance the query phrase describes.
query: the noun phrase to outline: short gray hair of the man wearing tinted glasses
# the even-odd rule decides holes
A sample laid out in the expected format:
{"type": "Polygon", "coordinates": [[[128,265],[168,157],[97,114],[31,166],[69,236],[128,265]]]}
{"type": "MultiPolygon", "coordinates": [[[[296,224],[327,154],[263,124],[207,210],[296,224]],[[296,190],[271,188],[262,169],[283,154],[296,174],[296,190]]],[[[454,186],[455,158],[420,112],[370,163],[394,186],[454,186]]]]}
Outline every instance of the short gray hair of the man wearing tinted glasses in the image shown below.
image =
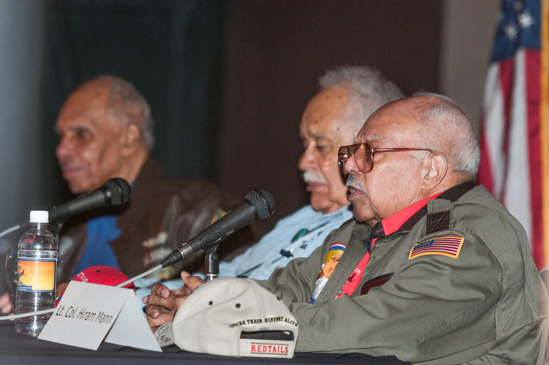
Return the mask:
{"type": "Polygon", "coordinates": [[[470,180],[474,180],[480,164],[480,147],[473,119],[467,110],[449,97],[434,92],[419,91],[412,96],[441,99],[422,115],[424,125],[439,131],[432,135],[428,147],[444,154],[454,172],[463,173],[470,180]]]}

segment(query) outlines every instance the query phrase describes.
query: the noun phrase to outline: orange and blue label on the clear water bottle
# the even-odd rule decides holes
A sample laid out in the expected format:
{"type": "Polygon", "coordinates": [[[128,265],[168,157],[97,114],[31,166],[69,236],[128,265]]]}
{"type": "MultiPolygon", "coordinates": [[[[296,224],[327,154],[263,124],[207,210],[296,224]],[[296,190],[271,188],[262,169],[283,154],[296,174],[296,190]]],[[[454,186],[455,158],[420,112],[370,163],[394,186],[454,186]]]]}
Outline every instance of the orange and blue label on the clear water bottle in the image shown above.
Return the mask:
{"type": "Polygon", "coordinates": [[[55,292],[57,258],[19,259],[17,261],[18,291],[55,292]]]}

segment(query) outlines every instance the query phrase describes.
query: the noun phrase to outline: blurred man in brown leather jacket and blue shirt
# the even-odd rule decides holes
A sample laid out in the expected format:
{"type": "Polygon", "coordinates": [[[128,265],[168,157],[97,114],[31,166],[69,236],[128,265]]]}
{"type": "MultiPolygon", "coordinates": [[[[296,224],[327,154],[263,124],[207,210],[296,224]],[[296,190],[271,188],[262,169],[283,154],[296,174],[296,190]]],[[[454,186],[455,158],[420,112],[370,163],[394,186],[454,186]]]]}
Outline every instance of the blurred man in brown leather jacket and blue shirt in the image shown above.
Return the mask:
{"type": "MultiPolygon", "coordinates": [[[[103,265],[135,276],[161,259],[240,201],[205,181],[169,179],[150,156],[154,137],[147,101],[125,80],[98,76],[77,87],[63,104],[55,129],[56,154],[72,193],[98,189],[111,178],[132,186],[130,201],[121,207],[71,217],[59,241],[58,283],[81,269],[103,265]]],[[[249,229],[220,246],[221,258],[254,242],[249,229]]],[[[159,270],[162,279],[182,268],[198,270],[204,254],[195,253],[179,266],[159,270]]],[[[10,309],[9,294],[0,298],[10,309]]]]}

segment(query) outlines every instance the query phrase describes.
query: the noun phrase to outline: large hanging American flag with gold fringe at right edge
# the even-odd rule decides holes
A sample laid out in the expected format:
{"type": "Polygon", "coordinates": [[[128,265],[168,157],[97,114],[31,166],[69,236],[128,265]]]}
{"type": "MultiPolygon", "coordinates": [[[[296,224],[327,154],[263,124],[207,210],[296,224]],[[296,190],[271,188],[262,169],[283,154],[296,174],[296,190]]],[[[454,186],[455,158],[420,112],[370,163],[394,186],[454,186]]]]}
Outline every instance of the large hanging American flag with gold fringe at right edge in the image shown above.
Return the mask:
{"type": "Polygon", "coordinates": [[[548,2],[503,0],[477,176],[522,223],[539,269],[549,264],[548,2]]]}

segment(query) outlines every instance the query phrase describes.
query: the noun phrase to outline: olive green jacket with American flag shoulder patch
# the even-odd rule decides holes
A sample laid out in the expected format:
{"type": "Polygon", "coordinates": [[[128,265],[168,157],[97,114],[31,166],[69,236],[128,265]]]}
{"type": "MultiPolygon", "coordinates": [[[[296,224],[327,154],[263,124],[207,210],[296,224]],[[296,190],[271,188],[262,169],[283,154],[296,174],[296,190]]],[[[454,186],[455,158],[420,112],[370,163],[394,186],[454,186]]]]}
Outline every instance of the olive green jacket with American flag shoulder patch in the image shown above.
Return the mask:
{"type": "Polygon", "coordinates": [[[371,228],[355,220],[309,258],[259,281],[297,319],[296,351],[394,355],[420,364],[543,364],[549,300],[523,227],[483,186],[453,202],[444,194],[429,200],[427,210],[430,217],[449,212],[447,226],[427,234],[427,214],[378,239],[351,296],[334,299],[367,252],[362,240],[371,228]],[[414,246],[440,237],[462,237],[458,255],[412,255],[414,246]],[[345,251],[311,305],[335,242],[345,251]],[[393,276],[361,295],[364,284],[386,274],[393,276]]]}

